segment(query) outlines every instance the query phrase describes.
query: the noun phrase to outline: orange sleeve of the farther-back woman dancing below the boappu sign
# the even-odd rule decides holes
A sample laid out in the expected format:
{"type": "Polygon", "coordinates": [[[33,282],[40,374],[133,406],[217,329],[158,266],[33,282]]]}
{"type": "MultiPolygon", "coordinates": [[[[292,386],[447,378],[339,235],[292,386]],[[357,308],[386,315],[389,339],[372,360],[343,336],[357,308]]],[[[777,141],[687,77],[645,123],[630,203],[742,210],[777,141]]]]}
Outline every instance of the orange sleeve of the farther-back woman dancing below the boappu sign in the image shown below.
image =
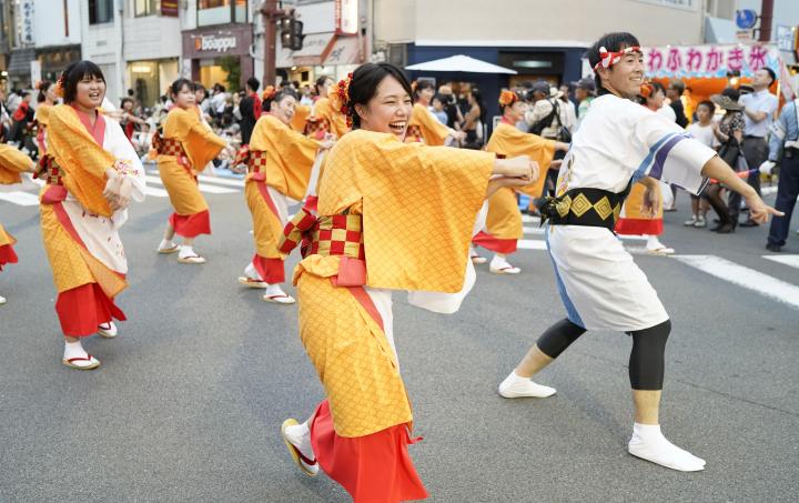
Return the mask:
{"type": "Polygon", "coordinates": [[[194,171],[204,170],[226,144],[200,121],[193,110],[186,111],[176,107],[170,110],[163,131],[165,138],[175,138],[183,144],[194,171]]]}

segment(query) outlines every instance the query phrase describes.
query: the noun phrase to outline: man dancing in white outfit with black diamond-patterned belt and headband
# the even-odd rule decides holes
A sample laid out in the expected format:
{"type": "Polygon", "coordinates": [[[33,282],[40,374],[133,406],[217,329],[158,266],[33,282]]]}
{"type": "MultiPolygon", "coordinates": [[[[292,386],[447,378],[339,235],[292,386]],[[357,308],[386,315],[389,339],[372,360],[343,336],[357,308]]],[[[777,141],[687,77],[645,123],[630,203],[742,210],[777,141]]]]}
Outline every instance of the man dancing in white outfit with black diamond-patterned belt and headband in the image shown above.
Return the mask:
{"type": "Polygon", "coordinates": [[[633,100],[644,78],[644,54],[629,33],[604,36],[588,50],[599,97],[591,102],[560,167],[556,198],[542,208],[558,291],[568,318],[546,330],[499,385],[508,399],[549,396],[555,390],[530,378],[586,330],[614,330],[633,338],[629,380],[635,423],[630,454],[679,471],[704,470],[705,461],[671,444],[658,412],[664,352],[671,322],[657,292],[613,233],[630,183],[647,187],[644,204],[658,207],[658,180],[700,192],[707,177],[741,193],[754,220],[779,214],[716,155],[716,151],[633,100]]]}

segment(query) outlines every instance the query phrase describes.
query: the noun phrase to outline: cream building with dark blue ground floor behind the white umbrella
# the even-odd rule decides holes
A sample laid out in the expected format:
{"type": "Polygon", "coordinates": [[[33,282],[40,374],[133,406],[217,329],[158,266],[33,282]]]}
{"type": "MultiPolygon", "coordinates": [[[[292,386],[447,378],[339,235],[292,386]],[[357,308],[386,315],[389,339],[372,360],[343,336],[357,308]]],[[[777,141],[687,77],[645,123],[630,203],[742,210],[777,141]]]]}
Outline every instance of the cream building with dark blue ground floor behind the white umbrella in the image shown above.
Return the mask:
{"type": "Polygon", "coordinates": [[[589,72],[586,49],[608,31],[630,31],[645,46],[702,40],[704,0],[373,0],[375,60],[397,66],[465,54],[515,70],[515,76],[413,72],[476,84],[490,115],[502,88],[545,79],[557,85],[589,72]]]}

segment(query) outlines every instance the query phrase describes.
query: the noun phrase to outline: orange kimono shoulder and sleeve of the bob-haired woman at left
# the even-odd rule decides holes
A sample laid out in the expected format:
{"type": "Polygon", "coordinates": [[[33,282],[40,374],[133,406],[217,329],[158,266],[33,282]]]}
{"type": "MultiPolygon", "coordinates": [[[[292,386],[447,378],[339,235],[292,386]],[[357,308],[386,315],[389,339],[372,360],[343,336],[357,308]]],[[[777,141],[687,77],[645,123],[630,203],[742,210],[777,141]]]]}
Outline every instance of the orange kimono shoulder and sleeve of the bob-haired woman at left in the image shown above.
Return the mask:
{"type": "Polygon", "coordinates": [[[64,171],[63,184],[92,213],[111,217],[113,211],[103,197],[105,170],[113,167],[114,157],[89,134],[68,104],[58,104],[50,111],[48,154],[64,171]]]}

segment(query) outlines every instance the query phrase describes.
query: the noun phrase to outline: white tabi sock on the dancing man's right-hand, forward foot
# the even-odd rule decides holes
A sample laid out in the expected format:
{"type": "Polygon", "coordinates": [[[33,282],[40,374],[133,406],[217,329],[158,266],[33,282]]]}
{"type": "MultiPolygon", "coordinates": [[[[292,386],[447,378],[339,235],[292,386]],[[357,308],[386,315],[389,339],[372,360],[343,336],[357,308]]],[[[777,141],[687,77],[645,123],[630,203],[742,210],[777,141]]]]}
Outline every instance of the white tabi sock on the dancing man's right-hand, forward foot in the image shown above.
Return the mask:
{"type": "Polygon", "coordinates": [[[634,456],[680,472],[705,470],[705,460],[672,444],[660,432],[659,424],[633,425],[633,437],[627,450],[634,456]]]}

